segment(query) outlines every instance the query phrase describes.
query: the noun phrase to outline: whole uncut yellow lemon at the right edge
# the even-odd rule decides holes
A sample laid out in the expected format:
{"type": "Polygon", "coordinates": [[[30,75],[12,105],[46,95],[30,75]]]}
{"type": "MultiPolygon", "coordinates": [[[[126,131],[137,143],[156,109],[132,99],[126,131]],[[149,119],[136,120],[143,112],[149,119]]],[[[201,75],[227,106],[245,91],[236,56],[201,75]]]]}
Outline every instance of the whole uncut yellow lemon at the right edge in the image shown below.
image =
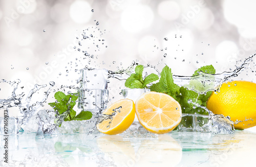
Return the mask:
{"type": "Polygon", "coordinates": [[[236,129],[246,129],[256,125],[256,83],[232,81],[223,83],[220,92],[212,92],[206,106],[215,114],[230,116],[236,129]]]}

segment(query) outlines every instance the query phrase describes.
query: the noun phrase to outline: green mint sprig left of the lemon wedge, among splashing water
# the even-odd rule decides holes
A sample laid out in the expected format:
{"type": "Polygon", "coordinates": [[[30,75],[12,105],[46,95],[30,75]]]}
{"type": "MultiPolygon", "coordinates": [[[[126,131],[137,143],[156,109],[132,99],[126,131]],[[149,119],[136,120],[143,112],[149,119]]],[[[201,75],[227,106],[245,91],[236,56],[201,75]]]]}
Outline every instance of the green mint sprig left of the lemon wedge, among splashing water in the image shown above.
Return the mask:
{"type": "Polygon", "coordinates": [[[92,113],[90,111],[81,111],[78,115],[76,115],[76,111],[73,110],[73,107],[76,105],[77,93],[68,94],[61,91],[57,91],[54,94],[54,98],[57,100],[55,103],[48,103],[54,110],[58,111],[58,114],[62,114],[63,112],[68,112],[64,121],[72,121],[72,120],[90,120],[92,117],[92,113]]]}

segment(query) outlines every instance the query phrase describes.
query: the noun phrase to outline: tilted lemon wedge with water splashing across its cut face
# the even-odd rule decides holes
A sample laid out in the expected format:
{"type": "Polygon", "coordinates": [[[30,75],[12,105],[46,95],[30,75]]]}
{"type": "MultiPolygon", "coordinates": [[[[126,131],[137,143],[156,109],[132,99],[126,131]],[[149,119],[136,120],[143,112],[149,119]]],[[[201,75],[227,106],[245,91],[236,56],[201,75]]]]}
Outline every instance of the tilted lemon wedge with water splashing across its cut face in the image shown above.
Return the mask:
{"type": "Polygon", "coordinates": [[[111,115],[115,109],[116,111],[112,120],[104,120],[97,124],[97,129],[104,134],[119,134],[125,131],[132,125],[135,118],[135,104],[130,99],[122,99],[110,105],[102,114],[111,115]],[[110,123],[111,122],[111,123],[110,123]]]}

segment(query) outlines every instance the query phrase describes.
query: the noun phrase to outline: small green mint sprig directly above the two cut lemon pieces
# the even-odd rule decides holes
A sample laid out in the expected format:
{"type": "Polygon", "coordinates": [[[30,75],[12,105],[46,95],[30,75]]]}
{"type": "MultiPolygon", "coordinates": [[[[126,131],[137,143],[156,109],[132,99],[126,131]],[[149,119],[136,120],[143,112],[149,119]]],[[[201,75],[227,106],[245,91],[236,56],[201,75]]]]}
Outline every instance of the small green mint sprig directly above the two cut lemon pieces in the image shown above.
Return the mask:
{"type": "Polygon", "coordinates": [[[147,88],[147,84],[150,84],[154,81],[157,81],[159,79],[158,75],[156,74],[150,74],[146,76],[143,79],[142,73],[143,73],[144,66],[143,65],[137,65],[135,67],[135,74],[131,74],[129,78],[125,81],[124,85],[128,88],[147,88]]]}

